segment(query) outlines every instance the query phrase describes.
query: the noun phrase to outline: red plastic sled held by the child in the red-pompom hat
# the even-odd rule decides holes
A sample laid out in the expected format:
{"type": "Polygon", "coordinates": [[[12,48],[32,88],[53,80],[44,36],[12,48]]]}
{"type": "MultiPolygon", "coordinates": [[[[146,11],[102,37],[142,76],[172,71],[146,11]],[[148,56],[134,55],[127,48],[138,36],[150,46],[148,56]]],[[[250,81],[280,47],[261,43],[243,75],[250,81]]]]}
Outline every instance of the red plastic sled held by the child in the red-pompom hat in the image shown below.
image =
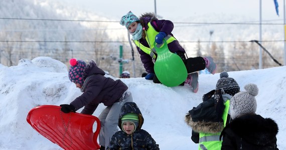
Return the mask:
{"type": "Polygon", "coordinates": [[[77,112],[64,113],[57,105],[31,109],[27,121],[40,134],[63,149],[99,149],[100,121],[96,116],[77,112]],[[96,131],[92,131],[96,121],[96,131]]]}

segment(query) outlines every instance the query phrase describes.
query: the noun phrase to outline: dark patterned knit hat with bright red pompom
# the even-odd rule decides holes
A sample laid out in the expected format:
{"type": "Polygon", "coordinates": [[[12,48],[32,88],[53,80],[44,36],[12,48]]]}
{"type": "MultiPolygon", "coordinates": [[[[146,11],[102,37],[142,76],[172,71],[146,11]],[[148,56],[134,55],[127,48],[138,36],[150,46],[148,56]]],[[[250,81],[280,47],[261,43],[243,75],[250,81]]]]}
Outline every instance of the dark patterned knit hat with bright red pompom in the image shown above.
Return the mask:
{"type": "Polygon", "coordinates": [[[83,60],[70,59],[69,79],[74,83],[83,85],[83,70],[86,63],[83,60]]]}

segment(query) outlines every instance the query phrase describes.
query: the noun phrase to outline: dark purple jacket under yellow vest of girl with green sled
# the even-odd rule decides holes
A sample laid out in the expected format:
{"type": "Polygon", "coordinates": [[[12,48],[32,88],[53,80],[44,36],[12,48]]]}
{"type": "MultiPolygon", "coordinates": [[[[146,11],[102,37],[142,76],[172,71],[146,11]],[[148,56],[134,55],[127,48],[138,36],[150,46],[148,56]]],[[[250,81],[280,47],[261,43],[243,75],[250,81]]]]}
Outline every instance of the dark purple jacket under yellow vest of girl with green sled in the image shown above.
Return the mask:
{"type": "MultiPolygon", "coordinates": [[[[158,19],[153,13],[146,13],[140,16],[140,22],[142,24],[142,27],[145,27],[145,30],[148,30],[148,23],[151,21],[151,25],[158,31],[163,31],[167,35],[170,34],[174,36],[171,32],[174,28],[174,24],[170,20],[164,20],[164,19],[158,19]],[[155,23],[156,22],[156,23],[155,23]]],[[[155,37],[151,37],[155,38],[155,37]]],[[[146,46],[150,47],[147,40],[145,38],[140,38],[139,42],[146,46]]],[[[144,65],[144,68],[146,69],[147,73],[155,73],[154,71],[154,62],[153,58],[141,50],[138,46],[136,46],[138,53],[140,54],[141,62],[144,65]]],[[[178,52],[181,51],[183,53],[186,53],[185,49],[181,46],[181,44],[178,42],[178,40],[174,40],[171,43],[168,44],[168,48],[171,52],[178,52]]]]}

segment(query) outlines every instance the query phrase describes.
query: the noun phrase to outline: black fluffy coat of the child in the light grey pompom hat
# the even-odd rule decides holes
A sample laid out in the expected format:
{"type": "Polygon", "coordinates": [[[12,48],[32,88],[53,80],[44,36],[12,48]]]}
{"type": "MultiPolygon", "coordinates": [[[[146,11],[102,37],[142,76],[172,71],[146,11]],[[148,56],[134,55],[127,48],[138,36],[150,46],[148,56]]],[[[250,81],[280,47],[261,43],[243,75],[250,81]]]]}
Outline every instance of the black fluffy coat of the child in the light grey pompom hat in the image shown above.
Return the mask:
{"type": "Polygon", "coordinates": [[[223,129],[221,149],[278,149],[278,126],[271,118],[258,114],[245,114],[233,119],[223,129]]]}

